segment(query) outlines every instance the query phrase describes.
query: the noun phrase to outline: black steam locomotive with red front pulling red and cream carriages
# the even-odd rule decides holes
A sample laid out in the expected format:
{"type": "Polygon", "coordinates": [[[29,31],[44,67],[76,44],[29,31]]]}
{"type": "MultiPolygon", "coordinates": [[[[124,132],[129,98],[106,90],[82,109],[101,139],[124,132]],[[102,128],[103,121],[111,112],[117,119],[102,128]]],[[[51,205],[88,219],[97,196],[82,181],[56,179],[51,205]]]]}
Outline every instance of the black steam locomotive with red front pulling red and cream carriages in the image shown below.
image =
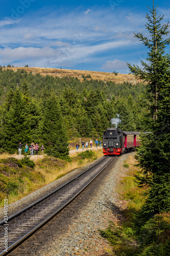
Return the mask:
{"type": "MultiPolygon", "coordinates": [[[[148,132],[143,132],[148,134],[148,132]]],[[[115,127],[103,133],[104,155],[121,155],[140,146],[140,132],[126,132],[115,127]]]]}

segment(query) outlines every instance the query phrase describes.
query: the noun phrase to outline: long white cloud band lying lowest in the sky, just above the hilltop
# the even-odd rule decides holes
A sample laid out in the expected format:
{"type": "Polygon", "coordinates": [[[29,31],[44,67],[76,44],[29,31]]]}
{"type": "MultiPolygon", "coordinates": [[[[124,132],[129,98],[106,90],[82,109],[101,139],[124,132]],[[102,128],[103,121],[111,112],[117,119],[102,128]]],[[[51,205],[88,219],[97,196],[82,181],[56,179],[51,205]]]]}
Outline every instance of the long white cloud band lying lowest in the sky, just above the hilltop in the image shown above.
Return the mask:
{"type": "Polygon", "coordinates": [[[16,59],[50,59],[61,62],[63,59],[67,61],[78,60],[86,58],[87,56],[107,51],[109,49],[115,49],[118,47],[124,47],[130,44],[130,41],[116,41],[106,42],[104,44],[86,46],[86,45],[69,45],[60,49],[53,49],[51,47],[35,48],[35,47],[18,47],[18,48],[0,48],[0,60],[1,61],[15,61],[16,59]]]}

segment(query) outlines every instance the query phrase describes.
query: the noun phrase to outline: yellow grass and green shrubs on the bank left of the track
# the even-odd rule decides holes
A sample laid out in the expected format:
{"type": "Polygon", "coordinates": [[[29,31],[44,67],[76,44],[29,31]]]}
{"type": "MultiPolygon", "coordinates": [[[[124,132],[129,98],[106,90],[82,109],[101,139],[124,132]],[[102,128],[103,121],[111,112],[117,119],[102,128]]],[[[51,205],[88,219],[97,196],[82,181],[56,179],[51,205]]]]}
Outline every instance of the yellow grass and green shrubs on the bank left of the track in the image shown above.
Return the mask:
{"type": "Polygon", "coordinates": [[[100,151],[84,151],[72,155],[69,161],[44,156],[36,162],[27,156],[18,160],[9,154],[3,154],[4,158],[0,155],[0,206],[4,206],[4,199],[15,202],[102,155],[100,151]]]}

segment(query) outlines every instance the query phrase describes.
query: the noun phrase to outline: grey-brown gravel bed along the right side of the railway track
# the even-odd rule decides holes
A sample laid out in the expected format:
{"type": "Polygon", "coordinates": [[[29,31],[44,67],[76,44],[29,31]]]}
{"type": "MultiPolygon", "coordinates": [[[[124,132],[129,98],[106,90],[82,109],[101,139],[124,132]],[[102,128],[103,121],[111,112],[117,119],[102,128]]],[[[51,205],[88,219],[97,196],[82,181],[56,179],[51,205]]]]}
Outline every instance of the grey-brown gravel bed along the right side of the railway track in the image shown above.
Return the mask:
{"type": "Polygon", "coordinates": [[[127,175],[123,164],[128,157],[129,154],[117,157],[59,216],[11,255],[112,255],[99,229],[106,229],[110,220],[124,218],[120,211],[126,204],[120,201],[116,185],[127,175]]]}

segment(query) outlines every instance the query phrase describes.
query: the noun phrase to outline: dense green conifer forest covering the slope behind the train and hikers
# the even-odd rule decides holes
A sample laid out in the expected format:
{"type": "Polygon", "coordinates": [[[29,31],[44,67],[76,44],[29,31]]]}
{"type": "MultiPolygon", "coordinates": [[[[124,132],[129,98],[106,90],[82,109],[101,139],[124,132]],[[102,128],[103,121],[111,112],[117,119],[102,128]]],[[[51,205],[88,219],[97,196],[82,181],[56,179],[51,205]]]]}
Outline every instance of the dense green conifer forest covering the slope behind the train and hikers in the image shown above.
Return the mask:
{"type": "Polygon", "coordinates": [[[73,77],[42,77],[23,70],[0,69],[1,152],[21,143],[44,144],[46,152],[65,157],[68,140],[102,139],[117,114],[124,131],[145,131],[145,85],[73,77]]]}

